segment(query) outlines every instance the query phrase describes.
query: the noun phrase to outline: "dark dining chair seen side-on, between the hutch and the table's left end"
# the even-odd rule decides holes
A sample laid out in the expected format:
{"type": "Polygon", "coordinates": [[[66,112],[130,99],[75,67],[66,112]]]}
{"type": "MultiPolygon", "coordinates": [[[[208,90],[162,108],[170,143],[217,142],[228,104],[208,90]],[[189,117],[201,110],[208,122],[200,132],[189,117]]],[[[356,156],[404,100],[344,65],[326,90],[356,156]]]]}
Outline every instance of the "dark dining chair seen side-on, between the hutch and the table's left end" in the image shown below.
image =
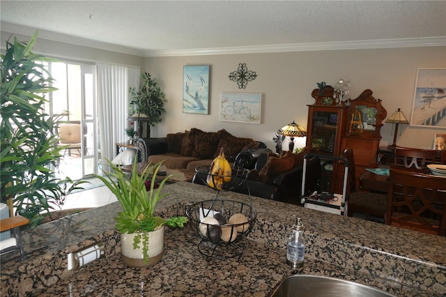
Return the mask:
{"type": "Polygon", "coordinates": [[[342,156],[350,162],[347,215],[353,217],[354,213],[364,213],[366,220],[383,223],[387,211],[387,194],[356,190],[353,148],[346,148],[342,151],[342,156]]]}

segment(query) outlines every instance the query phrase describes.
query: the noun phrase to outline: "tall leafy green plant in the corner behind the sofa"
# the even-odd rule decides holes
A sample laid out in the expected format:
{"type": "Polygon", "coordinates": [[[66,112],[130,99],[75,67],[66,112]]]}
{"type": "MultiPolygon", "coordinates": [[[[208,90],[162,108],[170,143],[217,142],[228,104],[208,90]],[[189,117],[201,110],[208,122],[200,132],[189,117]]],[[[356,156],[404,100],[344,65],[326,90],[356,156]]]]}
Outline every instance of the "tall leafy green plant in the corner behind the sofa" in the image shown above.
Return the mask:
{"type": "MultiPolygon", "coordinates": [[[[132,100],[129,103],[129,111],[132,114],[144,114],[147,116],[144,120],[147,122],[147,137],[151,137],[151,126],[154,127],[162,121],[161,116],[166,112],[164,109],[164,93],[161,91],[155,79],[149,73],[141,73],[142,84],[139,90],[130,88],[132,100]]],[[[142,121],[139,121],[139,135],[142,132],[142,121]]]]}

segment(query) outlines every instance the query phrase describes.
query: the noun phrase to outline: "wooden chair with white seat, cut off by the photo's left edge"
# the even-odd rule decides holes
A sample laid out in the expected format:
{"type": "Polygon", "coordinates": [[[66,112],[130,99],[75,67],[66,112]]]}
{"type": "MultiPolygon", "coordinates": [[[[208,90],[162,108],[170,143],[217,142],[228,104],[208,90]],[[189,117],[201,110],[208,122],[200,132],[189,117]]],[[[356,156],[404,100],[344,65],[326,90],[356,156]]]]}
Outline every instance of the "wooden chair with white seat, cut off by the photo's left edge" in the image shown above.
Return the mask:
{"type": "Polygon", "coordinates": [[[20,237],[20,227],[29,224],[27,218],[22,215],[15,215],[12,218],[5,218],[0,220],[0,232],[10,230],[10,238],[0,241],[0,256],[9,254],[10,252],[20,251],[20,257],[24,259],[26,257],[22,238],[20,237]]]}

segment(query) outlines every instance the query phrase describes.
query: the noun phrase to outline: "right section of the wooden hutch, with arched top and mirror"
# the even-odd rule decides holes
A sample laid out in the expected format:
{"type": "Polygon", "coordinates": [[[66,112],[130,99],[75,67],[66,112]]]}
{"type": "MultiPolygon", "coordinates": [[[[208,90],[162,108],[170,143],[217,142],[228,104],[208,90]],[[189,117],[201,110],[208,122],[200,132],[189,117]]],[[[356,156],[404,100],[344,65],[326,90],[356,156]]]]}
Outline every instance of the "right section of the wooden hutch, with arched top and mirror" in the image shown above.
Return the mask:
{"type": "Polygon", "coordinates": [[[366,168],[376,167],[376,152],[381,139],[380,130],[387,111],[380,99],[369,89],[363,91],[348,107],[341,149],[353,148],[356,185],[366,168]]]}

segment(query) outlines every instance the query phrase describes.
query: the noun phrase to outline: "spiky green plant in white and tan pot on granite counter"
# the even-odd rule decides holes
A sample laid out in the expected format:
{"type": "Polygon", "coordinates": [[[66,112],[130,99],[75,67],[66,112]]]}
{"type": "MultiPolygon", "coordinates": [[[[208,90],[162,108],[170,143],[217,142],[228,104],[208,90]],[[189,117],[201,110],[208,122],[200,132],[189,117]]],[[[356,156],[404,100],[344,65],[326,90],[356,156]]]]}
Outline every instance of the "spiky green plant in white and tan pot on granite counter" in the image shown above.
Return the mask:
{"type": "Polygon", "coordinates": [[[144,268],[157,264],[164,252],[164,226],[183,227],[187,217],[172,217],[164,220],[153,215],[155,206],[167,193],[161,193],[164,183],[171,176],[166,176],[160,184],[155,178],[162,165],[149,164],[138,174],[137,160],[133,163],[130,177],[121,167],[107,160],[112,172],[97,176],[116,195],[123,206],[123,211],[115,218],[115,229],[121,233],[121,259],[131,267],[144,268]],[[150,190],[146,181],[151,178],[150,190]]]}

